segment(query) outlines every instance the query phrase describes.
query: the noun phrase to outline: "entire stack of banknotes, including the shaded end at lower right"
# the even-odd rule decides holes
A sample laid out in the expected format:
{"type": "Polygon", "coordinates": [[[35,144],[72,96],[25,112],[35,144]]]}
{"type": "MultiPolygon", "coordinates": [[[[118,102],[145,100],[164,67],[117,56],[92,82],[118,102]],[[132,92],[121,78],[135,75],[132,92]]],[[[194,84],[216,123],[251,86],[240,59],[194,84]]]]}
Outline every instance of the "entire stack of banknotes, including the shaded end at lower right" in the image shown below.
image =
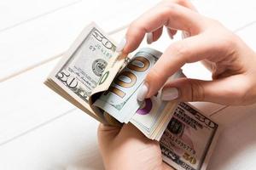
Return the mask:
{"type": "MultiPolygon", "coordinates": [[[[153,48],[141,48],[134,56],[120,54],[115,42],[91,23],[44,83],[99,122],[131,122],[149,139],[160,141],[163,159],[172,167],[206,168],[218,124],[189,104],[161,101],[161,92],[137,101],[138,90],[160,55],[153,48]]],[[[168,81],[178,77],[183,77],[182,71],[168,81]]]]}

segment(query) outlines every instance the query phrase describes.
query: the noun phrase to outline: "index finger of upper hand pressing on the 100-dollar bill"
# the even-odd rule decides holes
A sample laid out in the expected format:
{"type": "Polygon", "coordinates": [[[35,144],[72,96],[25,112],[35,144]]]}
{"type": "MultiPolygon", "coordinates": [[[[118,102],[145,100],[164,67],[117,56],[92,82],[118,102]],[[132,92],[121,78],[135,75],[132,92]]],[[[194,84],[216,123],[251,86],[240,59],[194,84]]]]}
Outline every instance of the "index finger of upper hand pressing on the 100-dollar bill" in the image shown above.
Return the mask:
{"type": "Polygon", "coordinates": [[[211,44],[205,43],[207,37],[195,36],[174,42],[166,49],[145,78],[143,92],[138,95],[139,100],[156,94],[166,83],[166,80],[177,72],[185,63],[199,61],[207,56],[211,44]]]}

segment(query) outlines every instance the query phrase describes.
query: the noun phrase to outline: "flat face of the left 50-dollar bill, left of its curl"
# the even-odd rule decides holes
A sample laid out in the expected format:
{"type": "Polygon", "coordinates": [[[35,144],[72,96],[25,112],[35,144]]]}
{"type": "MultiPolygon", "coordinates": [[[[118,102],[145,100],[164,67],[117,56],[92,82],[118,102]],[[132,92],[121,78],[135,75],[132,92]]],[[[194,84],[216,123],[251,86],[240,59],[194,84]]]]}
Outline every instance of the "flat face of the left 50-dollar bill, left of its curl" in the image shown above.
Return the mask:
{"type": "Polygon", "coordinates": [[[113,42],[103,36],[96,26],[92,26],[55,77],[81,99],[88,101],[115,48],[113,42]]]}

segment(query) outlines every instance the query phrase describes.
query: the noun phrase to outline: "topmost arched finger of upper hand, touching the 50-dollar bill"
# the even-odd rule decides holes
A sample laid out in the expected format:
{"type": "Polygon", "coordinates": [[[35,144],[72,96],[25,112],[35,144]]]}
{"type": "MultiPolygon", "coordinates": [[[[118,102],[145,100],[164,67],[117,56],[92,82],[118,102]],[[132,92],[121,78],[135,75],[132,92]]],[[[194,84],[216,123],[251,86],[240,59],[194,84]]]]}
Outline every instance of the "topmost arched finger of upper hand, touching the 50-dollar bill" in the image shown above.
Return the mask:
{"type": "Polygon", "coordinates": [[[131,53],[139,46],[146,33],[154,32],[162,26],[196,34],[204,27],[203,20],[204,17],[201,15],[175,3],[152,8],[131,23],[126,32],[126,44],[123,53],[131,53]]]}

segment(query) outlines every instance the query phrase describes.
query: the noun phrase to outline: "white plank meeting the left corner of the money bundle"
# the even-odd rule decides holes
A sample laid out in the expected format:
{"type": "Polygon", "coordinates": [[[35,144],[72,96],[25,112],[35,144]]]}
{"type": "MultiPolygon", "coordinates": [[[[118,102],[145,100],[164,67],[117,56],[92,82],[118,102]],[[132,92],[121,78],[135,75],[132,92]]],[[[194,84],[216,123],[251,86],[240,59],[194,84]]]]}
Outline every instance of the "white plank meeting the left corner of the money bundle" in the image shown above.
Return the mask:
{"type": "Polygon", "coordinates": [[[0,83],[0,144],[75,108],[43,84],[58,60],[0,83]]]}

